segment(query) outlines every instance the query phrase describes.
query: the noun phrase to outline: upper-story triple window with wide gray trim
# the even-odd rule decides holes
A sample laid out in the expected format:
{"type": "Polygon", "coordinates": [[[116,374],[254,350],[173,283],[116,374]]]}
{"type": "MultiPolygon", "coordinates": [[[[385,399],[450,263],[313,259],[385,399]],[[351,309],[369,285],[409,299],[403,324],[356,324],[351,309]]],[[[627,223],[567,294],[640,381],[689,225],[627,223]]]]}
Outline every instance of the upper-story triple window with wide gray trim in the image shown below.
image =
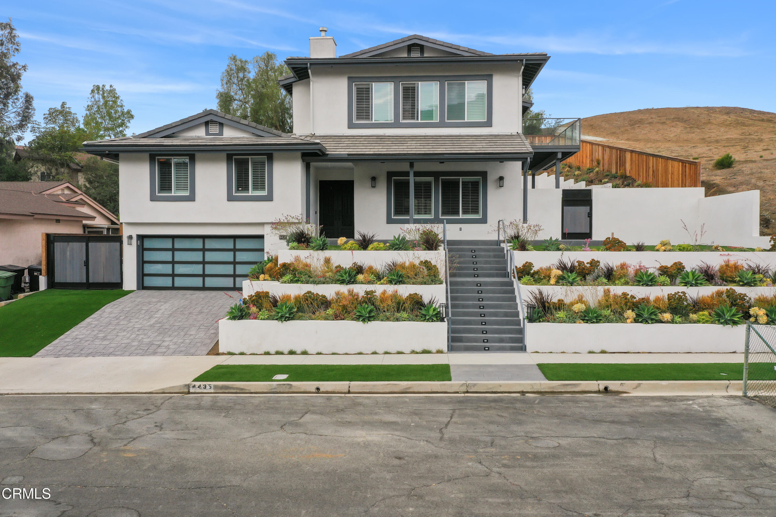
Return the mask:
{"type": "Polygon", "coordinates": [[[379,127],[493,127],[493,75],[348,77],[348,128],[379,127]],[[459,83],[451,85],[450,106],[449,83],[459,83]],[[378,84],[393,85],[390,94],[380,87],[381,106],[392,106],[390,115],[376,112],[378,84]]]}

